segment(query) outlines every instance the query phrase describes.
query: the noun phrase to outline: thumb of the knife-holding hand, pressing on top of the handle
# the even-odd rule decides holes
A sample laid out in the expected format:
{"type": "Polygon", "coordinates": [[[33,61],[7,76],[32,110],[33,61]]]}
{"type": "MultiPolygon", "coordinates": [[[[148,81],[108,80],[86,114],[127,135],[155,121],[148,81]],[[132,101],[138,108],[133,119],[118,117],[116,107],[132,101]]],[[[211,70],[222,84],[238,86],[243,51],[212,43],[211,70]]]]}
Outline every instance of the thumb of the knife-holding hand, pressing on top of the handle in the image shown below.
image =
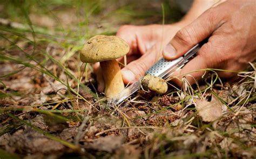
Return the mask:
{"type": "Polygon", "coordinates": [[[220,22],[218,12],[209,9],[191,24],[181,28],[168,45],[163,49],[163,56],[167,60],[177,59],[184,55],[187,50],[209,37],[220,22]]]}

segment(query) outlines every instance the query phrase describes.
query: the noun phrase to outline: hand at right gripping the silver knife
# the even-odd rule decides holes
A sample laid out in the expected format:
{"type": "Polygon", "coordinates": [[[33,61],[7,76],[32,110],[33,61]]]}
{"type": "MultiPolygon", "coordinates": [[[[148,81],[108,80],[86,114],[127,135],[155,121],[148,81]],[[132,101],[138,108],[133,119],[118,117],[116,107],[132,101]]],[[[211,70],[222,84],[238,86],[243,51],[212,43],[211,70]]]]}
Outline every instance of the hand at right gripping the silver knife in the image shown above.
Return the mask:
{"type": "MultiPolygon", "coordinates": [[[[208,38],[190,62],[174,73],[179,79],[185,74],[190,84],[199,80],[206,68],[240,71],[256,59],[256,1],[227,1],[203,13],[190,25],[177,32],[164,48],[167,60],[177,59],[198,42],[208,38]],[[196,79],[196,81],[195,81],[196,79]]],[[[235,74],[219,71],[220,77],[235,74]]],[[[173,80],[181,86],[181,80],[173,80]]]]}

